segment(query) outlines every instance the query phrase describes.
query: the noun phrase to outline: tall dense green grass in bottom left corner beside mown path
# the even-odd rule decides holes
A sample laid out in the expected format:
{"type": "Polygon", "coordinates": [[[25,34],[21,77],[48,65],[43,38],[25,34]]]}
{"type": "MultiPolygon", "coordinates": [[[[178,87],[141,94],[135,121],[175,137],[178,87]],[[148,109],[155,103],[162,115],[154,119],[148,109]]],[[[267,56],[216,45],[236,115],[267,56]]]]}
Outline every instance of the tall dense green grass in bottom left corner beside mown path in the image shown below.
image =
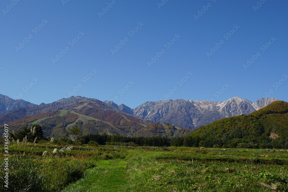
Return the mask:
{"type": "MultiPolygon", "coordinates": [[[[85,165],[77,160],[17,155],[10,160],[9,190],[11,192],[60,191],[83,176],[87,169],[85,165]]],[[[4,171],[1,170],[0,186],[5,189],[3,177],[4,171]]]]}

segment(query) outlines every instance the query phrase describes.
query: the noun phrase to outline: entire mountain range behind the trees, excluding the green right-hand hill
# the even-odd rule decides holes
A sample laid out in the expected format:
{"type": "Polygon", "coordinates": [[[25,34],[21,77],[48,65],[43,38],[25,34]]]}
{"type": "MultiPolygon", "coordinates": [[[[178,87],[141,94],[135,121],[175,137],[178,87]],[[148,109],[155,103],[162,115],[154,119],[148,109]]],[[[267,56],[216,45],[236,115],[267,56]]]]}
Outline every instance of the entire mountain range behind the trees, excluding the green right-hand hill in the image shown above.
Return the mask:
{"type": "Polygon", "coordinates": [[[237,96],[221,102],[176,99],[145,102],[131,109],[81,96],[37,105],[0,95],[0,125],[10,123],[18,130],[37,123],[44,126],[46,136],[54,137],[75,125],[86,134],[175,137],[225,117],[250,114],[274,101],[277,99],[262,98],[253,103],[237,96]]]}

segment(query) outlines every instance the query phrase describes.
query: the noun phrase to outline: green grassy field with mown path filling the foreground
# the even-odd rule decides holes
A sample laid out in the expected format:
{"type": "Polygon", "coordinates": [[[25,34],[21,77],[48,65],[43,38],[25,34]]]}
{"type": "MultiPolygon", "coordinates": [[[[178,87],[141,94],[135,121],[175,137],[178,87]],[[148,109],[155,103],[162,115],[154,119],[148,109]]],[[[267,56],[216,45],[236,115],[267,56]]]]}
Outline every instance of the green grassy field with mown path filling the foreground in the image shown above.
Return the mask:
{"type": "Polygon", "coordinates": [[[61,147],[12,144],[11,162],[33,162],[42,191],[288,191],[287,150],[75,146],[52,153],[61,147]]]}

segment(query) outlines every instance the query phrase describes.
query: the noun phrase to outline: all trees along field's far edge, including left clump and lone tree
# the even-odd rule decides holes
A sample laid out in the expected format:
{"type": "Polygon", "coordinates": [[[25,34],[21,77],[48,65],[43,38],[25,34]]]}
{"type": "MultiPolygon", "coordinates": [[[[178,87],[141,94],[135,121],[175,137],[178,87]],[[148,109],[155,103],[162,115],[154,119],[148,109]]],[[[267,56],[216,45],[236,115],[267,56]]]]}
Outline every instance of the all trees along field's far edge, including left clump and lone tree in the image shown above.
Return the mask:
{"type": "MultiPolygon", "coordinates": [[[[255,126],[257,127],[257,126],[255,126]]],[[[234,129],[234,131],[237,129],[234,129]]],[[[195,131],[196,132],[196,131],[195,131]]],[[[126,137],[120,135],[100,135],[100,134],[89,134],[82,135],[80,128],[72,127],[67,129],[67,133],[74,139],[75,143],[79,144],[96,144],[96,145],[122,145],[122,146],[150,146],[150,147],[170,147],[170,146],[184,146],[184,147],[214,147],[214,148],[266,148],[266,149],[288,149],[288,138],[278,137],[271,138],[269,134],[261,134],[261,131],[257,131],[259,135],[255,136],[249,134],[249,136],[236,137],[239,130],[235,133],[231,132],[233,137],[229,138],[225,134],[219,136],[201,136],[199,134],[191,134],[186,137],[167,138],[167,137],[126,137]],[[223,136],[224,135],[224,136],[223,136]]],[[[203,132],[202,132],[203,133],[203,132]]],[[[243,134],[243,132],[242,132],[243,134]]],[[[26,142],[38,142],[40,140],[49,140],[43,137],[41,126],[33,125],[31,128],[23,127],[22,130],[18,130],[16,133],[11,134],[12,140],[19,139],[20,141],[26,140],[26,142]]],[[[69,138],[55,139],[56,143],[71,144],[73,141],[69,138]]]]}

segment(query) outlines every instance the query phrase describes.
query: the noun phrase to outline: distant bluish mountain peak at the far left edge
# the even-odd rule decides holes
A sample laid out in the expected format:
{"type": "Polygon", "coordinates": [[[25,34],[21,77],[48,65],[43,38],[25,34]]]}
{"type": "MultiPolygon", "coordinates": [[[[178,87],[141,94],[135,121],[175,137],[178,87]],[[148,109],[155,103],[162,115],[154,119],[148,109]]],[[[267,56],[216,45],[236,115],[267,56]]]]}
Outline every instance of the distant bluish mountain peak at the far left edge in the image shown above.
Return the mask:
{"type": "Polygon", "coordinates": [[[18,109],[20,107],[35,106],[36,104],[24,101],[22,99],[12,99],[6,95],[0,94],[0,114],[18,109]]]}

